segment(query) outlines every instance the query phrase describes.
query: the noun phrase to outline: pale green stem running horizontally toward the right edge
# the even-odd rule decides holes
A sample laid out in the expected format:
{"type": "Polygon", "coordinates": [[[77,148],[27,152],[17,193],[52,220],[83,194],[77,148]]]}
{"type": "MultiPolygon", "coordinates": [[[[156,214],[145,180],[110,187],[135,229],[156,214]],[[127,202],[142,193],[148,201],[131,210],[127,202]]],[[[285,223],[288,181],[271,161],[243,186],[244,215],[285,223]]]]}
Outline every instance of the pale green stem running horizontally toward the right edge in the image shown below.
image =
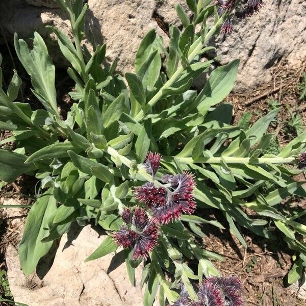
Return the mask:
{"type": "Polygon", "coordinates": [[[200,157],[193,159],[192,157],[176,157],[183,164],[220,164],[224,161],[226,164],[293,164],[295,163],[294,157],[275,157],[265,158],[261,157],[250,162],[249,157],[233,157],[233,156],[222,156],[222,157],[200,157]]]}

